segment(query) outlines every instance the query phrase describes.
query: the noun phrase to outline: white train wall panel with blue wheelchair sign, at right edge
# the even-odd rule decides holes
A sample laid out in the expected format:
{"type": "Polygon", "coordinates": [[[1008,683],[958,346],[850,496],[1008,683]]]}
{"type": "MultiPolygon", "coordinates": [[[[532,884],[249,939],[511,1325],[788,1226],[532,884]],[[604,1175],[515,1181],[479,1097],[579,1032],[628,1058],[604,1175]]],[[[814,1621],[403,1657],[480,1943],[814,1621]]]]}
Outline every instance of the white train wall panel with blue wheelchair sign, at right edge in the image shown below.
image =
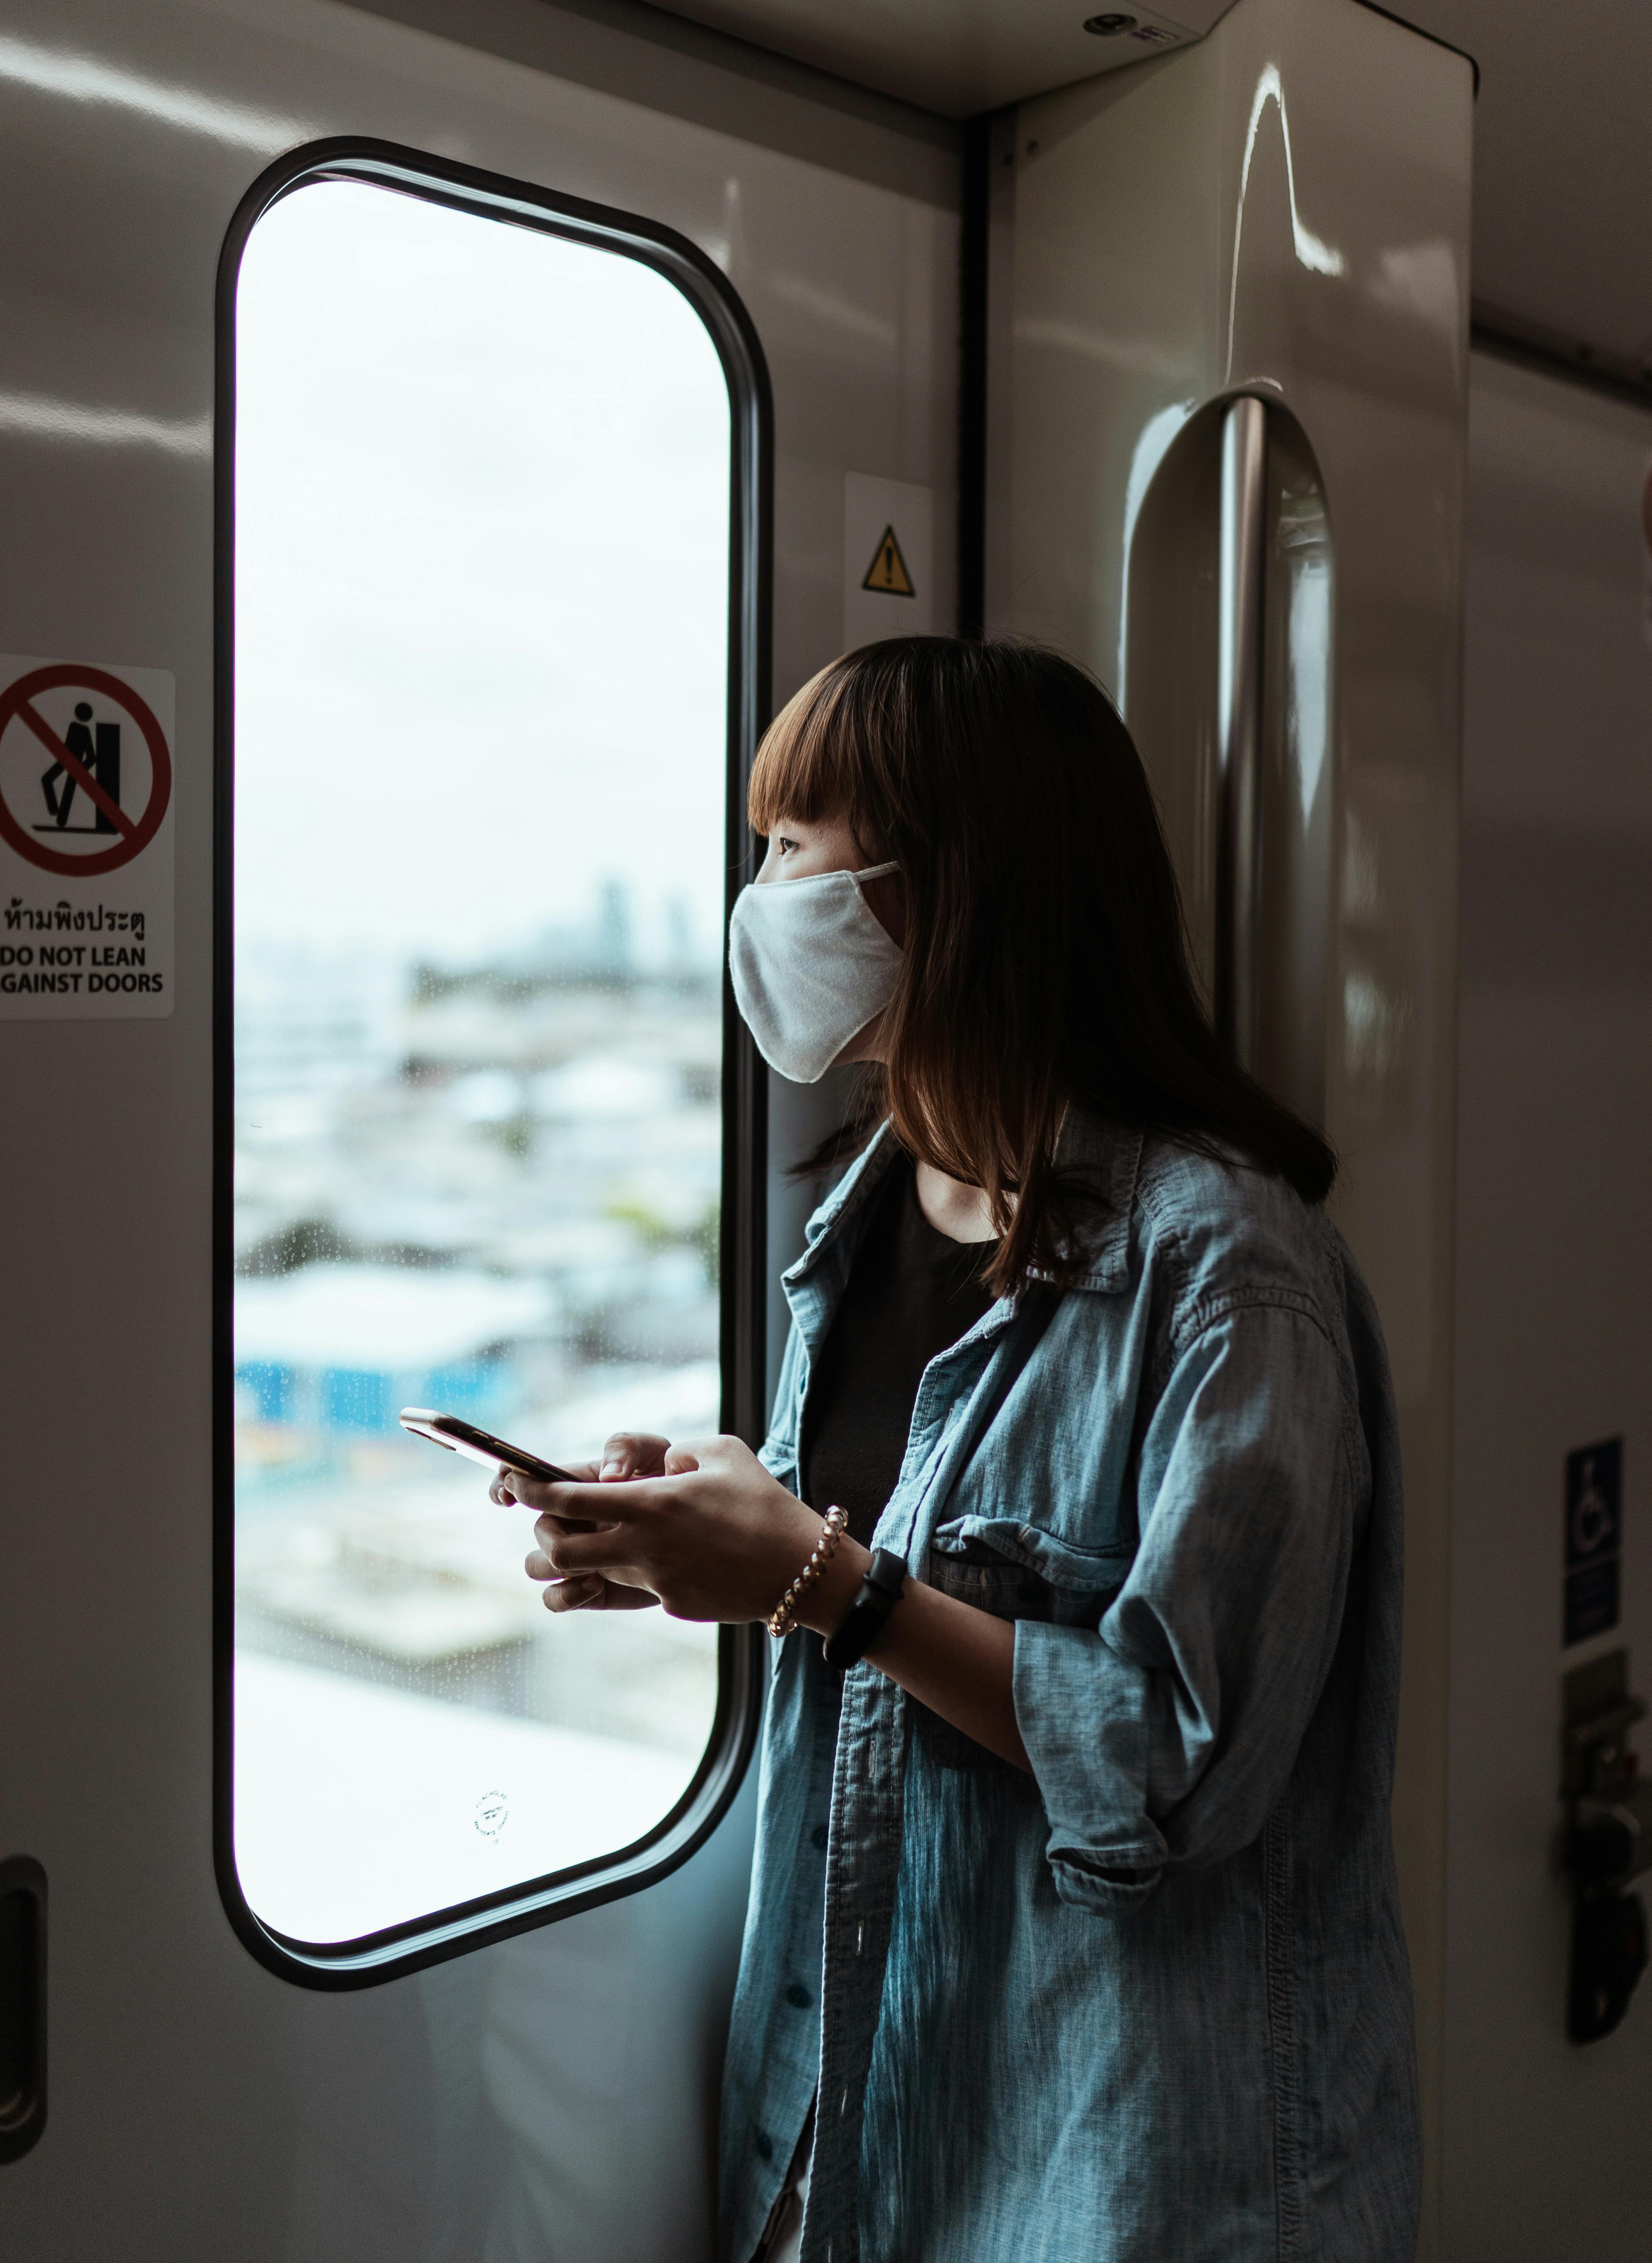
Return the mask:
{"type": "Polygon", "coordinates": [[[1614,2034],[1568,2041],[1557,1856],[1561,1675],[1616,1650],[1634,1693],[1652,1672],[1650,466],[1643,405],[1475,353],[1446,1987],[1464,2263],[1629,2263],[1647,2240],[1647,1982],[1614,2034]],[[1620,1589],[1591,1632],[1564,1614],[1566,1464],[1611,1439],[1620,1589]]]}

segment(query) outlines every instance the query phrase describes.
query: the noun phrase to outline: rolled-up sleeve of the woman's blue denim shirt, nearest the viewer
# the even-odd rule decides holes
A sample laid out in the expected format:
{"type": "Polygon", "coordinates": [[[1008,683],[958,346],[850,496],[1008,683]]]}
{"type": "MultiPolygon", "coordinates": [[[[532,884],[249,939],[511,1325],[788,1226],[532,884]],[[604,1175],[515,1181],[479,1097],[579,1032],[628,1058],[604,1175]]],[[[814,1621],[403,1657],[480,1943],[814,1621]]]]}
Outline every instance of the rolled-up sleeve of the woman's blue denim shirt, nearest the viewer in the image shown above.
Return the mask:
{"type": "Polygon", "coordinates": [[[1365,1503],[1313,1310],[1240,1303],[1179,1349],[1136,1500],[1141,1546],[1100,1627],[1016,1625],[1050,1869],[1098,1914],[1247,1847],[1319,1702],[1365,1503]]]}

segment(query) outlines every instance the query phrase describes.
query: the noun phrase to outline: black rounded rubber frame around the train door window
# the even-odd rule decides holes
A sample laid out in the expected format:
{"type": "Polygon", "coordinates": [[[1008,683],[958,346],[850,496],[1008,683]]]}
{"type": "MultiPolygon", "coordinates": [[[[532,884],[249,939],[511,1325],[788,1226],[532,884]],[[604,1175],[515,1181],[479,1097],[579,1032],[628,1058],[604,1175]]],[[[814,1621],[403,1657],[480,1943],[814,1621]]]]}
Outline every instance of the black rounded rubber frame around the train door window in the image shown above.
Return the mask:
{"type": "MultiPolygon", "coordinates": [[[[702,1763],[677,1806],[640,1840],[573,1869],[432,1910],[355,1942],[296,1942],[249,1905],[235,1869],[235,1446],[233,1446],[233,1129],[235,1129],[235,287],[251,231],[281,197],[315,181],[362,181],[462,213],[536,229],[640,260],[674,283],[706,324],[729,385],[729,758],[726,898],[754,876],[747,781],[769,717],[774,559],[774,410],[758,333],[706,253],[674,229],[582,197],[455,165],[396,143],[308,143],[269,165],[242,199],[217,267],[213,425],[213,1862],[240,1942],[283,1980],[358,1989],[489,1942],[636,1894],[679,1869],[717,1829],[756,1749],[763,1629],[717,1629],[717,1706],[702,1763]]],[[[767,1073],[722,982],[722,1426],[756,1444],[765,1419],[767,1073]]]]}

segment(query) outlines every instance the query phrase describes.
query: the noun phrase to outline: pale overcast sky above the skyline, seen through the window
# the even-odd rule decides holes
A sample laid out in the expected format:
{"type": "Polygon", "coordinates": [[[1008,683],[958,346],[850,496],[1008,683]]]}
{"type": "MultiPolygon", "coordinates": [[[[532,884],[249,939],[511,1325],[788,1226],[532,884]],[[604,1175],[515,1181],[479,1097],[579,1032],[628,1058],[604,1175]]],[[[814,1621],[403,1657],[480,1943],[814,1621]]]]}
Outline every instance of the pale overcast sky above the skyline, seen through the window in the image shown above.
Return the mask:
{"type": "Polygon", "coordinates": [[[729,394],[636,260],[355,183],[238,296],[244,939],[466,957],[722,914],[729,394]]]}

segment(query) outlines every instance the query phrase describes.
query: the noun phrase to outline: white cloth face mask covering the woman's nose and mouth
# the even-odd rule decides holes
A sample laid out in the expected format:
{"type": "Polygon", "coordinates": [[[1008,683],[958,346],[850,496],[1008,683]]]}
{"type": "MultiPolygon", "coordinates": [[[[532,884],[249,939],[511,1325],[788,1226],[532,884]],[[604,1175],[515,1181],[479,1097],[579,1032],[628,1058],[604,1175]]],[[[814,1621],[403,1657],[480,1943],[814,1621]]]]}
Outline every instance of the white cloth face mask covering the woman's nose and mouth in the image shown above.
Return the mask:
{"type": "Polygon", "coordinates": [[[896,864],[742,887],[729,973],[758,1052],[792,1084],[819,1084],[849,1039],[894,996],[901,953],[860,894],[896,864]]]}

